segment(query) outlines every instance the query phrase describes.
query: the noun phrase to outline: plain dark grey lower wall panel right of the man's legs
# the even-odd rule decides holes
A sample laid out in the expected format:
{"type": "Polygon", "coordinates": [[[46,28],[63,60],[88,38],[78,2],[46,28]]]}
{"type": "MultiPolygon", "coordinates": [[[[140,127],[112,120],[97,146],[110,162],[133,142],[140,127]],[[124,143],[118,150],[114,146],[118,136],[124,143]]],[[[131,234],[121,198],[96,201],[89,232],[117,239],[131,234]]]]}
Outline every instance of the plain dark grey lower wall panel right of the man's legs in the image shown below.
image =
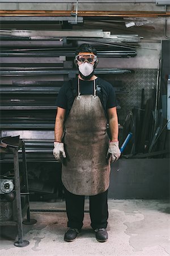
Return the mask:
{"type": "Polygon", "coordinates": [[[109,198],[169,198],[169,159],[119,159],[112,164],[109,198]]]}

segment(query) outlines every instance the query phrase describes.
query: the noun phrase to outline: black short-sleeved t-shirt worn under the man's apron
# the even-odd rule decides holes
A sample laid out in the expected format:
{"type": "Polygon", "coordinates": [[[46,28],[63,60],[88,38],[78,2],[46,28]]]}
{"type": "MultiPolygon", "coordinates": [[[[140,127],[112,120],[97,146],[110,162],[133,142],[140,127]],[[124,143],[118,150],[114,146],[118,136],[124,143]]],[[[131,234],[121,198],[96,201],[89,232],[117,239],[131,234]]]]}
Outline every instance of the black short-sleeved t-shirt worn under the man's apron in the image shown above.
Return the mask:
{"type": "MultiPolygon", "coordinates": [[[[72,80],[73,81],[73,80],[72,80]]],[[[80,81],[80,94],[93,94],[94,95],[94,81],[84,81],[84,80],[79,80],[80,81]]],[[[100,77],[97,77],[95,80],[96,82],[96,89],[97,87],[100,86],[102,87],[102,91],[104,94],[104,98],[106,100],[106,108],[114,108],[117,106],[117,100],[116,100],[116,95],[114,93],[114,88],[109,82],[101,79],[100,77]]],[[[77,85],[77,80],[74,80],[75,84],[75,90],[76,90],[76,95],[78,95],[78,85],[77,85]]],[[[68,90],[70,89],[71,83],[70,80],[65,82],[61,89],[59,90],[59,94],[57,97],[57,106],[59,108],[63,109],[68,109],[68,100],[69,100],[69,94],[67,93],[68,90]]]]}

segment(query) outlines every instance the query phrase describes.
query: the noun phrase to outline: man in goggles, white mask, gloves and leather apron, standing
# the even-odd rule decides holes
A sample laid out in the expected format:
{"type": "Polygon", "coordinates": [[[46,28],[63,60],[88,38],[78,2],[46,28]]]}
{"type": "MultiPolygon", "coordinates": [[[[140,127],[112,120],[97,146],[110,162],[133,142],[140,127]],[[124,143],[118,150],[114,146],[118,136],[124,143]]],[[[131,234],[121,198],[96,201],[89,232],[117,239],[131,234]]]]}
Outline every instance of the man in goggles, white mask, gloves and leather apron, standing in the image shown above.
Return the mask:
{"type": "Polygon", "coordinates": [[[107,193],[111,160],[120,157],[113,86],[94,75],[96,49],[82,44],[75,52],[79,75],[63,84],[57,97],[54,157],[62,162],[69,229],[74,241],[83,226],[84,196],[90,198],[91,226],[96,240],[108,240],[107,193]],[[110,138],[107,134],[109,123],[110,138]]]}

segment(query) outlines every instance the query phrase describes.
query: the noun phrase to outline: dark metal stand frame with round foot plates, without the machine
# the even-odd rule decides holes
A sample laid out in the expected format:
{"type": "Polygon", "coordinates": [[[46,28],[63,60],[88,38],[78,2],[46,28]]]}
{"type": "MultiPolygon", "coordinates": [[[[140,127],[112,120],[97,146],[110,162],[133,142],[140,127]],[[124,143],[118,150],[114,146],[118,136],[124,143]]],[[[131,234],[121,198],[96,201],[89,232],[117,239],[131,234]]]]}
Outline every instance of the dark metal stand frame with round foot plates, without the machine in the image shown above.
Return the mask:
{"type": "Polygon", "coordinates": [[[17,225],[18,228],[18,241],[14,242],[15,246],[24,247],[29,245],[29,241],[23,240],[23,225],[22,221],[27,213],[27,220],[23,223],[27,225],[35,224],[37,221],[30,218],[29,210],[29,191],[28,191],[28,175],[27,175],[27,161],[25,155],[25,144],[19,138],[6,138],[7,150],[6,152],[12,152],[14,156],[14,180],[15,180],[15,209],[13,209],[13,220],[0,221],[0,225],[17,225]],[[13,143],[13,144],[12,144],[13,143]],[[23,168],[19,170],[19,148],[22,147],[22,163],[23,168]],[[20,176],[22,181],[20,183],[20,176]],[[22,191],[22,192],[21,192],[22,191]],[[23,196],[23,204],[22,197],[23,196]]]}

